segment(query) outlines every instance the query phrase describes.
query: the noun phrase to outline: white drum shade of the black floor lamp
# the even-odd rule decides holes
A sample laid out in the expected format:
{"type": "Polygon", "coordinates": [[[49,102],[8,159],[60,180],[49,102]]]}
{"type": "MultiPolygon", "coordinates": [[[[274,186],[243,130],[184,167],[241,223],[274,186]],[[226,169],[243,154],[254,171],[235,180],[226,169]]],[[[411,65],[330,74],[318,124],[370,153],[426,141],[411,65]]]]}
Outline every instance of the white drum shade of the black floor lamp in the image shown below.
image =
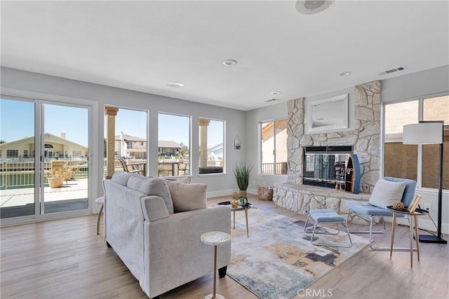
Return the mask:
{"type": "Polygon", "coordinates": [[[404,125],[403,144],[442,144],[443,122],[424,122],[404,125]]]}

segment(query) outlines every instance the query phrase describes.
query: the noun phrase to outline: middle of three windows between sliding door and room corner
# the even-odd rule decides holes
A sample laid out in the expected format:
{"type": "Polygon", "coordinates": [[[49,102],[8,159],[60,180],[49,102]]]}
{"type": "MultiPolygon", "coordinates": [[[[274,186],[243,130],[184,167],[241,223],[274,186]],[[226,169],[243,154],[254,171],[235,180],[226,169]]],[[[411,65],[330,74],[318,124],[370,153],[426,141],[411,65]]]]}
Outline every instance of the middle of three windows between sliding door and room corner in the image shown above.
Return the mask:
{"type": "Polygon", "coordinates": [[[158,176],[190,174],[190,117],[158,116],[158,176]]]}

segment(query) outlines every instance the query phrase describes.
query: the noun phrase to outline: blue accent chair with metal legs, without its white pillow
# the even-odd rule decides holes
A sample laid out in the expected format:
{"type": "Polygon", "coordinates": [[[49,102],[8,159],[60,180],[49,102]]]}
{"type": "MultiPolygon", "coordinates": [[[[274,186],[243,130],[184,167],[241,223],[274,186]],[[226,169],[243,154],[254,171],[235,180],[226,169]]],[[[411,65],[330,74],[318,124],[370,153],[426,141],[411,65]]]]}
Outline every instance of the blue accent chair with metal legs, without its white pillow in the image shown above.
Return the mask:
{"type": "MultiPolygon", "coordinates": [[[[416,181],[410,180],[410,179],[399,179],[394,178],[391,176],[385,176],[383,179],[387,181],[394,181],[394,182],[406,182],[406,189],[404,190],[404,193],[401,198],[401,202],[403,202],[404,207],[408,207],[410,203],[413,201],[413,197],[415,196],[415,188],[416,188],[416,181]]],[[[363,220],[367,221],[370,224],[370,230],[368,231],[356,231],[352,233],[369,233],[370,234],[370,248],[373,250],[380,250],[380,251],[389,251],[389,248],[375,248],[373,247],[373,234],[375,233],[385,233],[387,230],[385,228],[385,221],[384,216],[393,216],[393,212],[389,211],[388,209],[384,209],[381,207],[373,206],[373,204],[370,204],[369,202],[358,202],[358,201],[348,201],[346,202],[346,205],[349,209],[348,216],[347,216],[347,223],[349,223],[349,217],[352,214],[355,214],[362,218],[363,220]],[[373,230],[373,222],[375,217],[380,217],[380,220],[383,224],[383,230],[373,230]]],[[[404,214],[397,214],[398,217],[405,217],[408,219],[408,217],[404,214]]],[[[410,219],[408,219],[410,223],[410,219]]],[[[409,251],[410,248],[395,248],[395,251],[409,251]]]]}

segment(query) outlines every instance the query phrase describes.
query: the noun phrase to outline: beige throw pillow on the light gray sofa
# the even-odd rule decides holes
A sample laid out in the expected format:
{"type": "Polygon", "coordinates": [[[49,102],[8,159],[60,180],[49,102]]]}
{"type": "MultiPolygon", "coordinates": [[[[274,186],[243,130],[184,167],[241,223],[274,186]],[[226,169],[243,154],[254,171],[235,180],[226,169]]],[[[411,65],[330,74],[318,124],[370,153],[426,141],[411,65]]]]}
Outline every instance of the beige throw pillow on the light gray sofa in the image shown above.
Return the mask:
{"type": "Polygon", "coordinates": [[[175,213],[180,211],[193,211],[206,209],[206,183],[175,183],[166,181],[170,189],[175,213]]]}

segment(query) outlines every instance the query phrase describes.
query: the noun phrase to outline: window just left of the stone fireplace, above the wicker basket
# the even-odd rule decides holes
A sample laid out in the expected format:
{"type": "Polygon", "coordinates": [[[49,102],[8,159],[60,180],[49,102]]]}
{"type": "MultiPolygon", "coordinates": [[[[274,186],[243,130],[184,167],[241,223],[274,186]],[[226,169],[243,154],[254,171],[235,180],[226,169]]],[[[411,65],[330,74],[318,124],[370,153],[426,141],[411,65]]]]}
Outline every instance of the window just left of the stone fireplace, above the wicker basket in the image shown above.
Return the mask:
{"type": "Polygon", "coordinates": [[[287,120],[261,123],[262,174],[287,174],[287,120]]]}

